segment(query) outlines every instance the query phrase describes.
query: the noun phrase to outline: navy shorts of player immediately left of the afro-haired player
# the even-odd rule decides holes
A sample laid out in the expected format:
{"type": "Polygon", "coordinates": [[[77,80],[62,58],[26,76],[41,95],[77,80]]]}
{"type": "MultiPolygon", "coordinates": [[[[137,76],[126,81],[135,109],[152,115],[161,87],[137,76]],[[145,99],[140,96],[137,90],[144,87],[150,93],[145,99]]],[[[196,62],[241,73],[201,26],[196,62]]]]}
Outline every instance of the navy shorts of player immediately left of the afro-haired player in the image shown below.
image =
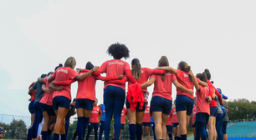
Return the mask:
{"type": "Polygon", "coordinates": [[[95,102],[93,100],[78,98],[78,99],[76,99],[74,107],[93,110],[94,109],[94,104],[95,104],[95,102]]]}

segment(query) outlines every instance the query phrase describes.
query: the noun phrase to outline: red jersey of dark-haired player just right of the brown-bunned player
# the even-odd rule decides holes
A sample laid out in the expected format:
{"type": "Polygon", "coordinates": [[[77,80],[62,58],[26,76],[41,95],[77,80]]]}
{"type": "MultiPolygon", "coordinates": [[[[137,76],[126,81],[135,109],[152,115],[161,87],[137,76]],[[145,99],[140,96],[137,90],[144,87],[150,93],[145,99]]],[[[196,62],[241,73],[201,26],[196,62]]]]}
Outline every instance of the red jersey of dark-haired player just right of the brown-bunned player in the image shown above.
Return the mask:
{"type": "Polygon", "coordinates": [[[210,115],[210,105],[206,97],[209,94],[208,87],[202,87],[199,85],[200,91],[196,92],[197,95],[197,113],[198,112],[207,112],[210,115]]]}

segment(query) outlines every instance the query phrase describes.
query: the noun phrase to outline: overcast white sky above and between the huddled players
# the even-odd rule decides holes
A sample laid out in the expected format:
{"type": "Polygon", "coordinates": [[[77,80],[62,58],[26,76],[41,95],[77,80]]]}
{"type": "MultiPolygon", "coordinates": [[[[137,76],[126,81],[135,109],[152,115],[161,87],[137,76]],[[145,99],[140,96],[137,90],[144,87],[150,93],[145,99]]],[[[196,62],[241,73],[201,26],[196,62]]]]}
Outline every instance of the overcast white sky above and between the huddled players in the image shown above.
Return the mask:
{"type": "MultiPolygon", "coordinates": [[[[142,67],[162,55],[208,68],[230,99],[256,100],[255,1],[0,1],[0,114],[29,116],[28,86],[73,56],[76,67],[112,59],[111,43],[130,49],[142,67]]],[[[152,88],[149,91],[152,92],[152,88]]],[[[103,82],[96,97],[103,102],[103,82]]],[[[174,88],[175,89],[175,88],[174,88]]],[[[72,85],[75,97],[77,83],[72,85]]],[[[176,97],[173,90],[172,97],[176,97]]],[[[151,98],[151,95],[150,95],[151,98]]],[[[1,120],[0,120],[1,121],[1,120]]]]}

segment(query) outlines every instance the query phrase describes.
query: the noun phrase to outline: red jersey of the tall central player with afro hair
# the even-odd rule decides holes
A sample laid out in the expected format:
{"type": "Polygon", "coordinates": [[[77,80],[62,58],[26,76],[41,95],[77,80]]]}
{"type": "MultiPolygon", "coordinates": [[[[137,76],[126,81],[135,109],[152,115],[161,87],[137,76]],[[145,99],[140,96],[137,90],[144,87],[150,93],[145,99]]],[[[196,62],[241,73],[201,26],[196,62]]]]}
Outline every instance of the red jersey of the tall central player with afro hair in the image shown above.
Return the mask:
{"type": "MultiPolygon", "coordinates": [[[[117,77],[119,75],[125,75],[125,70],[130,70],[130,65],[128,62],[122,61],[120,59],[114,59],[104,62],[98,71],[100,73],[105,72],[107,77],[117,77]]],[[[108,86],[115,86],[115,87],[121,87],[125,90],[125,84],[115,84],[115,83],[109,83],[105,84],[105,87],[108,86]]],[[[104,88],[105,88],[104,87],[104,88]]]]}

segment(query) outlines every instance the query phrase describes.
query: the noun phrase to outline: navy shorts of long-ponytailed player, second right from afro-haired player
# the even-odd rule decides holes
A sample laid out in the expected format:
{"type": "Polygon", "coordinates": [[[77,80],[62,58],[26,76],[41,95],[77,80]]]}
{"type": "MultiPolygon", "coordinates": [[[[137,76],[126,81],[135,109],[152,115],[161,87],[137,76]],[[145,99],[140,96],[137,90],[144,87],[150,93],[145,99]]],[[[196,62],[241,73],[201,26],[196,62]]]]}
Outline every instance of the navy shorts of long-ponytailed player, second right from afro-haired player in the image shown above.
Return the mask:
{"type": "Polygon", "coordinates": [[[167,115],[172,111],[172,100],[155,96],[151,98],[151,112],[162,112],[167,115]]]}

